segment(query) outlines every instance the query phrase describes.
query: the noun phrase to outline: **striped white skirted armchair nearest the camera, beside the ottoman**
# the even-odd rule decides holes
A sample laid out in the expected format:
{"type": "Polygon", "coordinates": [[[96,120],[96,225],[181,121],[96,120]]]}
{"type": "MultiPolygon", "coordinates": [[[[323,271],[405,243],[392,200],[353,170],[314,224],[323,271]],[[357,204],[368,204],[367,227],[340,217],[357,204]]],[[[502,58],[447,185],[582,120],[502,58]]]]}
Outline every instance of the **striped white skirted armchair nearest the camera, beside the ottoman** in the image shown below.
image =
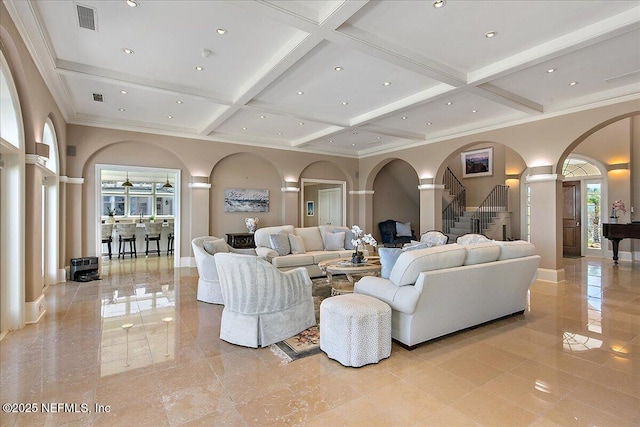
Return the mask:
{"type": "Polygon", "coordinates": [[[316,324],[305,268],[280,271],[265,259],[216,254],[224,309],[220,339],[266,347],[316,324]]]}

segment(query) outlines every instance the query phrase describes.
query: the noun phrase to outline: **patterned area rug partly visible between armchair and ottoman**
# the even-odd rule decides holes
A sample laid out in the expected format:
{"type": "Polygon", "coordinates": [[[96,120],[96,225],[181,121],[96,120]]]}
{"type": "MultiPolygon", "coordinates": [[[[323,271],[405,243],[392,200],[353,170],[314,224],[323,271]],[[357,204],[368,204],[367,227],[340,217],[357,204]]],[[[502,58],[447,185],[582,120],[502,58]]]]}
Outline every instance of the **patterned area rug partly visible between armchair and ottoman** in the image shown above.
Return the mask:
{"type": "Polygon", "coordinates": [[[320,303],[331,296],[331,286],[326,278],[313,279],[313,303],[316,313],[316,325],[284,341],[271,345],[271,352],[282,359],[282,363],[289,363],[303,357],[312,356],[320,350],[320,303]]]}

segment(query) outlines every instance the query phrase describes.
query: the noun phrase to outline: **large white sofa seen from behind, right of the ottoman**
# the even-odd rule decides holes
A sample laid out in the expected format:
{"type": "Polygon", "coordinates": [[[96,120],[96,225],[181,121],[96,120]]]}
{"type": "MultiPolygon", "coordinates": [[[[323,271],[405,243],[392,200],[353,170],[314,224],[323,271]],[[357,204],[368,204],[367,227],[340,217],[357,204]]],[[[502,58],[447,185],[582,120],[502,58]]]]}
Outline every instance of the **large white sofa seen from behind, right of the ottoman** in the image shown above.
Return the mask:
{"type": "Polygon", "coordinates": [[[434,246],[401,253],[388,278],[363,277],[354,292],[389,304],[391,336],[412,348],[523,312],[539,262],[524,241],[434,246]]]}

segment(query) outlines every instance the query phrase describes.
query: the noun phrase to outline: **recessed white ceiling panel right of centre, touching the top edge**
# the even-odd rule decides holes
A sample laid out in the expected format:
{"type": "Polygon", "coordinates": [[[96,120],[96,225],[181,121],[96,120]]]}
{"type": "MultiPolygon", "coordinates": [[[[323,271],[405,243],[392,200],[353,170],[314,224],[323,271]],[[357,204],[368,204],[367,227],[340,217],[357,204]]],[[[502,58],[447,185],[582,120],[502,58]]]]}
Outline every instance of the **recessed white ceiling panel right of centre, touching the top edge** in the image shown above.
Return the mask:
{"type": "Polygon", "coordinates": [[[464,72],[637,7],[634,1],[369,2],[349,26],[464,72]],[[485,37],[490,31],[498,35],[485,37]]]}

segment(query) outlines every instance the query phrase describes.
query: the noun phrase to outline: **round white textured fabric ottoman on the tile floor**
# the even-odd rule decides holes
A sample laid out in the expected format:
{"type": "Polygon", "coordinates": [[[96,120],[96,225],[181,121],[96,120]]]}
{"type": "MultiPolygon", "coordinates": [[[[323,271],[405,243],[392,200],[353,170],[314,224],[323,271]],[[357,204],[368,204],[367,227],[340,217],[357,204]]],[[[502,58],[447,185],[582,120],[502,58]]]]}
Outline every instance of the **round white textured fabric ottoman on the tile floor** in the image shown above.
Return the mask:
{"type": "Polygon", "coordinates": [[[320,304],[320,349],[344,366],[378,363],[391,355],[391,307],[347,294],[320,304]]]}

